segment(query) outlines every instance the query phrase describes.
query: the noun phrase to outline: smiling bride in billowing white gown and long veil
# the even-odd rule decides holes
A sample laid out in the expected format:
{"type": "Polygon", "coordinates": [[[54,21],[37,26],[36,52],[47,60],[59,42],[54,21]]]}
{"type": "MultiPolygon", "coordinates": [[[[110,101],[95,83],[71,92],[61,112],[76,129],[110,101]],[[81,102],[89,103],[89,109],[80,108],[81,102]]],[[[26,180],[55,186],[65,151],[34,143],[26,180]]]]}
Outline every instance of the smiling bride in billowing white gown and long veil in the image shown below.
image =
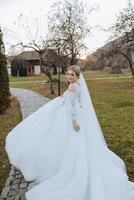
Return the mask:
{"type": "Polygon", "coordinates": [[[108,149],[79,66],[68,89],[6,138],[10,163],[36,185],[27,200],[134,200],[124,161],[108,149]]]}

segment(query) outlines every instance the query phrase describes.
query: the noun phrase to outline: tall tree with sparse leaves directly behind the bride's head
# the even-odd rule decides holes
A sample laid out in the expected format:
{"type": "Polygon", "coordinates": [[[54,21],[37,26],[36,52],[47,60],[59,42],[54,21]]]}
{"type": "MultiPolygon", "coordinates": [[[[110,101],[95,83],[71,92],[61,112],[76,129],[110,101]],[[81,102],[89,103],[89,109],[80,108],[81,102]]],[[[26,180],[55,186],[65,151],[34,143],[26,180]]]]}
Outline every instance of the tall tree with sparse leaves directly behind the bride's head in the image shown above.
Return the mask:
{"type": "Polygon", "coordinates": [[[85,48],[84,39],[90,31],[87,17],[79,0],[54,3],[48,16],[52,45],[58,46],[64,57],[70,57],[70,64],[76,63],[77,56],[85,48]]]}

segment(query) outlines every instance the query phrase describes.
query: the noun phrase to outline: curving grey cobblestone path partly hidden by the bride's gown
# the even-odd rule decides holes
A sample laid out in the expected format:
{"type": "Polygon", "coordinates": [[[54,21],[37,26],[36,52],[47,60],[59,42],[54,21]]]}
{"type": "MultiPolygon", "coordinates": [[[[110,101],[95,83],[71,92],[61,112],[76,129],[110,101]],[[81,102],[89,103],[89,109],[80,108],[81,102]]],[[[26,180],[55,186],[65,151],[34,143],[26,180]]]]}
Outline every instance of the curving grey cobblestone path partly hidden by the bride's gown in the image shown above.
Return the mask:
{"type": "MultiPolygon", "coordinates": [[[[50,99],[27,89],[11,88],[20,103],[22,117],[25,119],[50,99]]],[[[25,200],[25,192],[32,187],[32,182],[26,182],[21,172],[11,166],[5,187],[2,190],[0,200],[25,200]]]]}

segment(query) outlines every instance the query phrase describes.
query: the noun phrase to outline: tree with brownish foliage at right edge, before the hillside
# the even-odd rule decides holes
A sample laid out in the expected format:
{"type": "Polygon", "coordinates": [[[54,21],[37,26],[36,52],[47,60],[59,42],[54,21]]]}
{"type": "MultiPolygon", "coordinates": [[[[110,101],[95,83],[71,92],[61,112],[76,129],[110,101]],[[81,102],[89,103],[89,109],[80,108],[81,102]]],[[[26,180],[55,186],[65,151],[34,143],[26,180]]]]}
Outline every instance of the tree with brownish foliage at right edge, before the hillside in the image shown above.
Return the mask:
{"type": "Polygon", "coordinates": [[[120,37],[112,42],[111,54],[120,54],[127,59],[134,79],[134,4],[131,0],[119,13],[111,29],[115,37],[120,37]]]}

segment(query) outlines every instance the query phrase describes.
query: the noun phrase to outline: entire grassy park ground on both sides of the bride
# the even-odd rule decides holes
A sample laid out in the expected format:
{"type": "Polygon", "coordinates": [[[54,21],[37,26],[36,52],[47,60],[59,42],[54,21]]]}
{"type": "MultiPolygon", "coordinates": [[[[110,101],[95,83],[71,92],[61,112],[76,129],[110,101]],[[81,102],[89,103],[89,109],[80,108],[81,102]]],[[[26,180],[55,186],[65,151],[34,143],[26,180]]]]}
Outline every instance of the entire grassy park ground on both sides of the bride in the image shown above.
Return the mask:
{"type": "MultiPolygon", "coordinates": [[[[110,74],[108,72],[83,72],[108,147],[126,163],[129,179],[134,181],[134,80],[130,73],[110,74]],[[113,77],[113,79],[112,79],[113,77]],[[97,79],[96,79],[97,78],[97,79]]],[[[57,78],[57,76],[53,76],[57,78]]],[[[45,75],[33,77],[10,77],[10,87],[26,88],[50,99],[57,96],[57,83],[54,95],[49,94],[45,75]]],[[[65,76],[61,75],[61,80],[65,76]]],[[[61,84],[61,94],[67,89],[61,84]]],[[[10,170],[4,150],[5,137],[21,121],[19,104],[11,97],[11,107],[0,116],[0,190],[10,170]]]]}

